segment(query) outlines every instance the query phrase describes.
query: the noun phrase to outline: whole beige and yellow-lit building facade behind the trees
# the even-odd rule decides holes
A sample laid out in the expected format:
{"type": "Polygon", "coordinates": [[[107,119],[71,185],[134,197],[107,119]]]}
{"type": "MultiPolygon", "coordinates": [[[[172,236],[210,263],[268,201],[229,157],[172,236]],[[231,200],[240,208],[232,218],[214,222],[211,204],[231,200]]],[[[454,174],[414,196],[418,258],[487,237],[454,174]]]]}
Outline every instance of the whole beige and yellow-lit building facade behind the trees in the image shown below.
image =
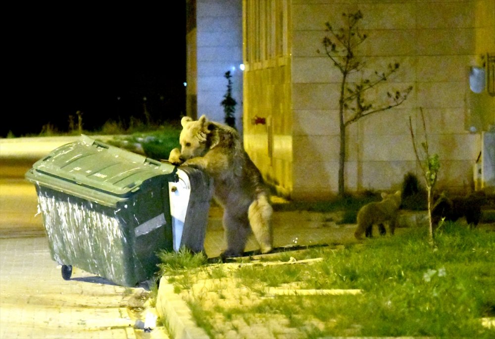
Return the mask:
{"type": "Polygon", "coordinates": [[[341,27],[342,13],[358,9],[367,69],[400,64],[376,100],[413,89],[397,108],[348,126],[346,189],[398,189],[406,172],[421,176],[408,127],[411,117],[423,136],[420,108],[440,156],[438,187],[495,187],[495,0],[244,0],[244,142],[267,181],[292,199],[337,193],[342,75],[317,50],[325,23],[341,27]]]}

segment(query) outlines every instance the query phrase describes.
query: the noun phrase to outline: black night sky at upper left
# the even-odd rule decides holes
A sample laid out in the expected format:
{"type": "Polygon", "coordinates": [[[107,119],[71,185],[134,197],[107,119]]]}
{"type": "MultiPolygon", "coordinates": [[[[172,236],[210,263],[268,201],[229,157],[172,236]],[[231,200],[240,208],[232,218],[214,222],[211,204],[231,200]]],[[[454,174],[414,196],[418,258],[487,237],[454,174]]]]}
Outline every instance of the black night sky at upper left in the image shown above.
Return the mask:
{"type": "Polygon", "coordinates": [[[154,122],[185,113],[185,1],[165,3],[12,9],[0,136],[38,134],[48,123],[66,131],[77,111],[87,130],[145,121],[144,97],[154,122]]]}

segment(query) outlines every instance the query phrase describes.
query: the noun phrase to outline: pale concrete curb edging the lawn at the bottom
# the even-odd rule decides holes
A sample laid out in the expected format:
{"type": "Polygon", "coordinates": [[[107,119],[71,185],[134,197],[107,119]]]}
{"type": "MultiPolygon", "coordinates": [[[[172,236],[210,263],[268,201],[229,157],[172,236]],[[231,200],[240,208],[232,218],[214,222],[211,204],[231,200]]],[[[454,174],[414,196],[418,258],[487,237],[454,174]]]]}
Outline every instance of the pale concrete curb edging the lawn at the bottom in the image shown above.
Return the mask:
{"type": "Polygon", "coordinates": [[[203,329],[196,325],[188,305],[178,294],[174,293],[174,286],[168,283],[167,277],[160,279],[156,311],[160,318],[168,321],[173,338],[210,338],[203,329]]]}

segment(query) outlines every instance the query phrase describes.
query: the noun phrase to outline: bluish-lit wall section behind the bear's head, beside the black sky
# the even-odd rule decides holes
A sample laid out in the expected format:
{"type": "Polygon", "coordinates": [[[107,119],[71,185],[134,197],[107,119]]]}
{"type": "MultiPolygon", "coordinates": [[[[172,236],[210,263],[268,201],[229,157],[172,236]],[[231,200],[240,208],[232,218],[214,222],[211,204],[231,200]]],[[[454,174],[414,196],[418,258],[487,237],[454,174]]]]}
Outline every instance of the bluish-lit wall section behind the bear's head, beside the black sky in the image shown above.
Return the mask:
{"type": "MultiPolygon", "coordinates": [[[[232,75],[232,97],[236,100],[236,126],[242,130],[243,75],[242,0],[195,0],[196,29],[188,35],[188,69],[197,96],[197,108],[188,108],[188,115],[223,122],[221,102],[227,91],[225,72],[232,75]],[[191,52],[189,52],[191,49],[191,52]],[[194,74],[193,70],[196,70],[194,74]]],[[[188,87],[190,86],[188,73],[188,87]]],[[[189,89],[188,89],[189,90],[189,89]]],[[[188,91],[189,93],[189,91],[188,91]]],[[[194,94],[192,94],[194,95],[194,94]]],[[[193,97],[192,97],[193,98],[193,97]]]]}

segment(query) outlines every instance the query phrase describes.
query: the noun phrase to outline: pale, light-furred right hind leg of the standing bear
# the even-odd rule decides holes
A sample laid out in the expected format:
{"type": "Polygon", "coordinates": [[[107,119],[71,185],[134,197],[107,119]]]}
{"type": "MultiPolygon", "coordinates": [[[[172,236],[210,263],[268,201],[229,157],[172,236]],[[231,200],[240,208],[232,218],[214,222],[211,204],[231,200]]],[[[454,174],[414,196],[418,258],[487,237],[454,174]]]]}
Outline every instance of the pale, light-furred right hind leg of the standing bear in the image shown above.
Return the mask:
{"type": "Polygon", "coordinates": [[[258,242],[261,253],[268,253],[273,246],[273,233],[271,226],[273,209],[264,194],[259,194],[249,205],[247,217],[254,238],[258,242]]]}

